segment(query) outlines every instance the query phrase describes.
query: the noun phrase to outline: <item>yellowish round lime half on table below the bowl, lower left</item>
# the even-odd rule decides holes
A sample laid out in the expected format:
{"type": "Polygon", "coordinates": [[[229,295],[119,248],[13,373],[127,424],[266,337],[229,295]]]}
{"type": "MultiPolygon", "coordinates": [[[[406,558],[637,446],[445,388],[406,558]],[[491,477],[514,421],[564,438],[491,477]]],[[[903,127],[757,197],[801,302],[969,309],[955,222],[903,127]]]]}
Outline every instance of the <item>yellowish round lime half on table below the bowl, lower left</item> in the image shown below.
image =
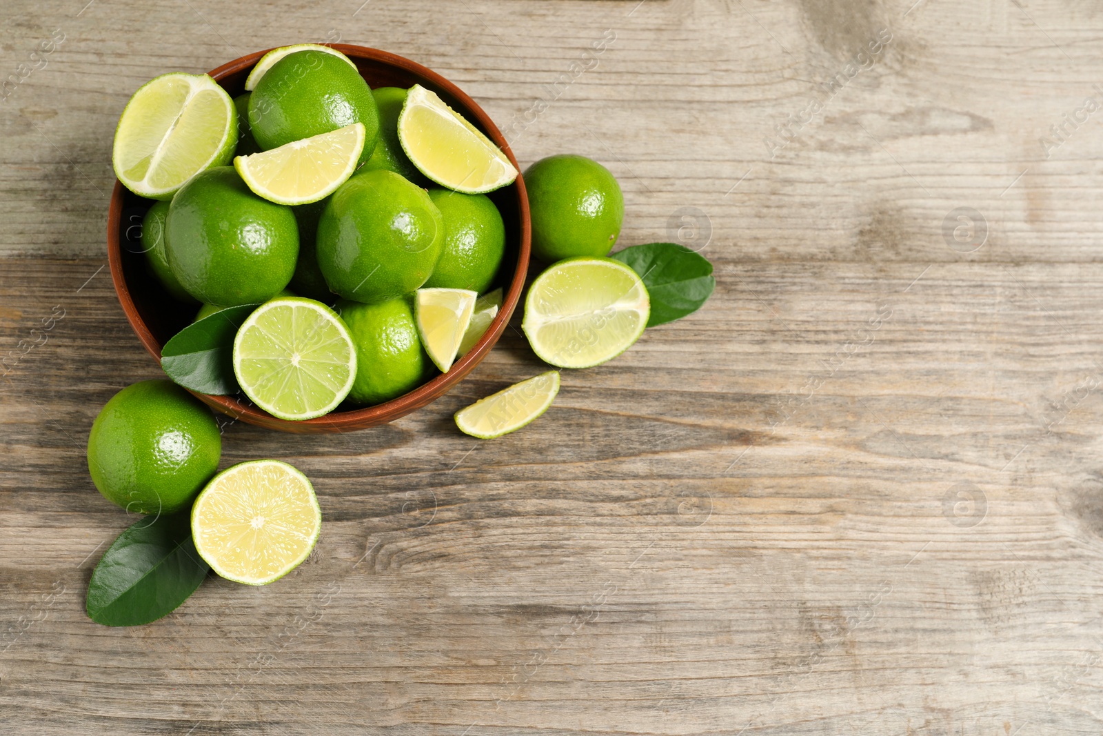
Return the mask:
{"type": "Polygon", "coordinates": [[[307,558],[322,529],[310,481],[279,460],[254,460],[211,479],[192,506],[195,550],[235,583],[268,585],[307,558]]]}

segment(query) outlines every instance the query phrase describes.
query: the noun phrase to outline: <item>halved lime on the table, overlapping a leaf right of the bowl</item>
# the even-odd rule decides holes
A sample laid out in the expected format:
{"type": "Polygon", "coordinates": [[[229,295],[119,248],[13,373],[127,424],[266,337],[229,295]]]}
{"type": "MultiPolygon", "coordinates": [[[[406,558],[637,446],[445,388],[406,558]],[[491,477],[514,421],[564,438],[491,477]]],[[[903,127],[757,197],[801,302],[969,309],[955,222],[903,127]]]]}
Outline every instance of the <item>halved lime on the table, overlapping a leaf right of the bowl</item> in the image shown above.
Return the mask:
{"type": "Polygon", "coordinates": [[[533,281],[521,329],[540,360],[590,367],[631,348],[650,313],[634,270],[612,258],[568,258],[533,281]]]}

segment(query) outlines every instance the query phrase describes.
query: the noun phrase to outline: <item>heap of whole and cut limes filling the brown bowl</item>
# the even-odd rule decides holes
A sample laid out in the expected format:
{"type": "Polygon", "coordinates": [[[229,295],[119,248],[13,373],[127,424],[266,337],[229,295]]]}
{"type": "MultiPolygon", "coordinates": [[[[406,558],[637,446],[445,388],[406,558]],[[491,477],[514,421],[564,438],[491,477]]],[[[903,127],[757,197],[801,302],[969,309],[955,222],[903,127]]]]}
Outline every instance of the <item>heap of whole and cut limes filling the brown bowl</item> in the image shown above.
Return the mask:
{"type": "Polygon", "coordinates": [[[508,158],[432,92],[370,89],[329,46],[269,52],[245,86],[231,99],[165,74],[122,113],[116,173],[160,200],[143,223],[161,234],[153,274],[200,317],[259,305],[234,374],[279,418],[447,372],[501,306],[505,225],[485,192],[516,178],[508,158]]]}

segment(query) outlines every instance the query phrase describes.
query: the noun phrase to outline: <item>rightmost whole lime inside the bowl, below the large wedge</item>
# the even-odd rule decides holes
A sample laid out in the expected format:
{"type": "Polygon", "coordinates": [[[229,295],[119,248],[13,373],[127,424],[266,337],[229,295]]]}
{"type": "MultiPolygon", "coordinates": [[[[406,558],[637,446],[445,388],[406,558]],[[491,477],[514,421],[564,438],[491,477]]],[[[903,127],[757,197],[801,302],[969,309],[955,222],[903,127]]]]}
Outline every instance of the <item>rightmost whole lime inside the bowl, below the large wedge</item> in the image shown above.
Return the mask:
{"type": "Polygon", "coordinates": [[[445,249],[426,288],[485,291],[505,253],[505,224],[485,194],[430,189],[429,199],[445,218],[445,249]]]}

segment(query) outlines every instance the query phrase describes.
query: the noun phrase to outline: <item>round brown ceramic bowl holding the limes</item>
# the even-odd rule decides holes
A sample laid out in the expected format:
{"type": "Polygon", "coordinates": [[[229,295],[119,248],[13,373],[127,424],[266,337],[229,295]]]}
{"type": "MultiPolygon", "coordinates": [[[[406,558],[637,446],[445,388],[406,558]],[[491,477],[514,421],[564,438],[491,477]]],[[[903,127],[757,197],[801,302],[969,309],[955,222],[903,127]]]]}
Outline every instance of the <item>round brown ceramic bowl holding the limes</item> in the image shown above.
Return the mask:
{"type": "MultiPolygon", "coordinates": [[[[411,87],[420,84],[431,89],[452,109],[460,113],[476,128],[482,130],[501,148],[513,166],[517,160],[513,157],[508,143],[490,117],[470,97],[454,84],[420,64],[389,54],[377,49],[351,46],[346,44],[330,44],[349,56],[360,70],[361,76],[371,87],[411,87]]],[[[245,77],[249,70],[268,51],[258,51],[238,60],[223,64],[211,72],[231,96],[245,90],[245,77]]],[[[364,429],[385,424],[392,419],[409,414],[430,403],[457,383],[479,364],[486,353],[497,342],[510,316],[513,314],[521,291],[525,284],[525,273],[528,269],[529,228],[528,198],[525,195],[525,183],[521,177],[508,186],[491,192],[489,195],[497,205],[505,221],[506,247],[505,258],[499,270],[497,285],[503,288],[502,309],[491,323],[482,340],[462,359],[452,365],[448,373],[438,375],[428,383],[398,398],[357,408],[342,404],[336,410],[304,422],[288,422],[278,419],[266,412],[256,408],[244,397],[210,396],[196,394],[208,406],[217,412],[248,422],[249,424],[295,433],[334,433],[364,429]]],[[[150,354],[161,360],[161,346],[195,317],[196,306],[181,305],[170,298],[160,284],[157,282],[146,266],[146,257],[141,255],[141,246],[137,237],[141,232],[141,218],[152,201],[132,194],[121,183],[115,182],[111,193],[110,210],[107,215],[107,254],[111,266],[111,280],[118,294],[119,303],[126,312],[130,327],[150,354]]]]}

